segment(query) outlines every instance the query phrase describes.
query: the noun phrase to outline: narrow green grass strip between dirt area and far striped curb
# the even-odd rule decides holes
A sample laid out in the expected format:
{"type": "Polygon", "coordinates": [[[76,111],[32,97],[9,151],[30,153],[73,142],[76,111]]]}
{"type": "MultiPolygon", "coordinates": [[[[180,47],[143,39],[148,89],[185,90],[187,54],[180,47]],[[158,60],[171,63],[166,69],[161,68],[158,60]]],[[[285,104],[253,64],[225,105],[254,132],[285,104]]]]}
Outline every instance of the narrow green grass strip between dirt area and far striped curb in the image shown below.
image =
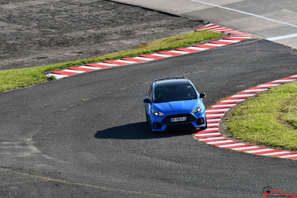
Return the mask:
{"type": "Polygon", "coordinates": [[[189,34],[178,35],[174,37],[168,37],[146,43],[138,47],[137,49],[127,50],[96,58],[71,61],[66,63],[59,63],[47,66],[30,67],[24,69],[10,69],[0,71],[0,92],[10,89],[16,89],[21,87],[27,87],[42,83],[47,80],[55,80],[54,78],[48,78],[44,75],[44,72],[62,69],[69,66],[83,65],[88,63],[101,62],[106,60],[113,60],[119,58],[126,58],[132,56],[138,56],[141,54],[153,53],[157,51],[170,50],[177,47],[186,47],[206,40],[222,37],[222,34],[211,31],[199,31],[189,34]]]}

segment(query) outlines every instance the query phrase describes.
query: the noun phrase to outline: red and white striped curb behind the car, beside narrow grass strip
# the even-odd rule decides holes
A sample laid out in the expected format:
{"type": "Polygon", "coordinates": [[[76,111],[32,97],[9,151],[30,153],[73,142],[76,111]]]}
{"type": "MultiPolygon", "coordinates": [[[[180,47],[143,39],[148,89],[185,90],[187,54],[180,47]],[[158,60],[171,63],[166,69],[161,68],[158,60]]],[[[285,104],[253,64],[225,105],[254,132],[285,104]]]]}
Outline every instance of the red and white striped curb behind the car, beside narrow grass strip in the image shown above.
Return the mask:
{"type": "Polygon", "coordinates": [[[217,26],[217,25],[214,25],[211,23],[202,27],[202,28],[198,28],[195,31],[202,31],[202,30],[224,32],[224,33],[230,34],[231,37],[226,37],[219,41],[211,41],[211,42],[208,42],[203,45],[193,45],[191,47],[186,47],[186,48],[177,48],[177,49],[174,49],[171,51],[166,51],[166,52],[163,51],[163,52],[157,52],[157,53],[149,54],[149,55],[139,55],[139,56],[133,57],[133,58],[121,58],[119,60],[114,60],[114,61],[102,61],[100,63],[85,64],[84,66],[79,66],[79,67],[69,67],[69,68],[61,70],[61,71],[51,72],[51,73],[47,74],[47,76],[55,76],[56,78],[64,78],[64,77],[71,76],[74,74],[84,73],[84,72],[102,69],[102,68],[106,68],[106,67],[127,65],[127,64],[132,64],[132,63],[139,63],[139,62],[143,62],[143,61],[152,61],[152,60],[156,60],[156,59],[160,59],[160,58],[167,58],[167,57],[171,57],[171,56],[199,52],[199,51],[203,51],[203,50],[212,49],[215,47],[230,45],[232,43],[236,43],[236,42],[239,42],[239,41],[242,41],[242,40],[252,37],[252,35],[245,34],[243,32],[239,32],[239,31],[232,30],[229,28],[217,26]]]}

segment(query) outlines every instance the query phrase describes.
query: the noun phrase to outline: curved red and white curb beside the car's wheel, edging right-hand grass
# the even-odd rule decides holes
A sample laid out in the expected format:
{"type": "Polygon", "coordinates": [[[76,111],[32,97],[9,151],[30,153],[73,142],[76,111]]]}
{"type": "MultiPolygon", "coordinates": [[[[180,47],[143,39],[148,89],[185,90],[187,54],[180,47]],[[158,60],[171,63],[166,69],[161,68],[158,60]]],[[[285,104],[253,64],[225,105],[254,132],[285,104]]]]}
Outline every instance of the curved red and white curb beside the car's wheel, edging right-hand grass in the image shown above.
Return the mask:
{"type": "Polygon", "coordinates": [[[253,144],[244,144],[238,141],[233,141],[228,138],[223,137],[219,132],[219,122],[223,115],[230,110],[231,107],[234,107],[238,102],[244,101],[249,96],[253,96],[260,91],[265,91],[270,87],[278,86],[282,83],[290,82],[297,80],[297,75],[282,78],[279,80],[274,80],[270,83],[259,85],[257,87],[250,88],[246,91],[242,91],[230,98],[219,102],[206,110],[206,119],[208,128],[205,130],[198,130],[194,133],[195,137],[205,142],[206,144],[228,148],[231,150],[242,151],[246,153],[252,153],[257,155],[264,156],[274,156],[285,159],[297,159],[297,152],[289,152],[285,150],[274,150],[268,147],[259,147],[253,144]]]}

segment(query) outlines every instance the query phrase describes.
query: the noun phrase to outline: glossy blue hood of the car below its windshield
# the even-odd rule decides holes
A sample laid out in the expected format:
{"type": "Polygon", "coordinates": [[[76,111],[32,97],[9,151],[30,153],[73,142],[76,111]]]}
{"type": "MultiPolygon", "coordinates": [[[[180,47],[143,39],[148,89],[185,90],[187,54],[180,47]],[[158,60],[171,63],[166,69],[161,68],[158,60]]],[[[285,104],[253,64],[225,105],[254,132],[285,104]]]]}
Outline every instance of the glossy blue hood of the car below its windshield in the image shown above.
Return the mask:
{"type": "Polygon", "coordinates": [[[153,103],[152,109],[161,113],[168,113],[173,111],[194,110],[201,104],[199,99],[195,100],[181,100],[172,102],[153,103]]]}

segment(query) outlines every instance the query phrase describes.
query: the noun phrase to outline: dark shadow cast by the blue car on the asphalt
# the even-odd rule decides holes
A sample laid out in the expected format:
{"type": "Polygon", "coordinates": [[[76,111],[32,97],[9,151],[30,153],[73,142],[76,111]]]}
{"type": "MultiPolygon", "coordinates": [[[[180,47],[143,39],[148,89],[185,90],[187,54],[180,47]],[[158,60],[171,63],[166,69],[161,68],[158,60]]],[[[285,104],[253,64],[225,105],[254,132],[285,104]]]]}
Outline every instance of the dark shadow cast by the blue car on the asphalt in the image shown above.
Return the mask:
{"type": "Polygon", "coordinates": [[[102,131],[97,131],[94,135],[98,139],[123,139],[123,140],[137,140],[137,139],[156,139],[166,138],[181,135],[190,135],[191,131],[178,131],[178,132],[155,132],[149,130],[146,122],[137,122],[116,126],[102,131]]]}

